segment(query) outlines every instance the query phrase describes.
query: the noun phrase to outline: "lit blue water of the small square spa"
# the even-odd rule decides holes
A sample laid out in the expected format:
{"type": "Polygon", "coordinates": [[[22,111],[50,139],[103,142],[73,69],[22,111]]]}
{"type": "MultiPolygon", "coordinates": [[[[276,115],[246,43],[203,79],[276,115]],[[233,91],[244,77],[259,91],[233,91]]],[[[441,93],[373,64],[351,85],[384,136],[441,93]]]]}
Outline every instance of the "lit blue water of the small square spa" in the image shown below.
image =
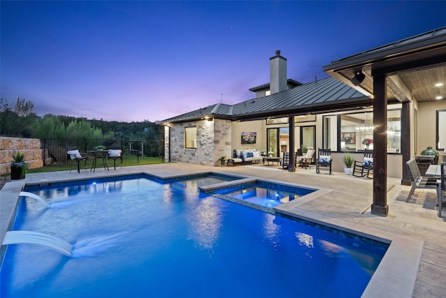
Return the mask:
{"type": "Polygon", "coordinates": [[[231,198],[273,208],[279,204],[290,202],[303,195],[316,191],[314,188],[280,186],[277,184],[256,181],[252,184],[242,184],[231,188],[223,188],[214,193],[228,195],[231,198]]]}

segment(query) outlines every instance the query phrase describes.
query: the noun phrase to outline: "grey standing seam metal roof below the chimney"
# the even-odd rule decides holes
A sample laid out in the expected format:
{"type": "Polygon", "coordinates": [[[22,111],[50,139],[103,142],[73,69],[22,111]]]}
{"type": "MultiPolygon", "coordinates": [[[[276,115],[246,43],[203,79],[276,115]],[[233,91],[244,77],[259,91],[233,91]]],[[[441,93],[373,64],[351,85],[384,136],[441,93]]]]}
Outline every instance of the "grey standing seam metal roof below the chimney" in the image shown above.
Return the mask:
{"type": "Polygon", "coordinates": [[[371,98],[356,91],[334,77],[327,77],[316,82],[302,84],[277,94],[252,98],[235,105],[217,103],[208,107],[178,115],[157,124],[196,121],[204,117],[217,119],[266,119],[268,117],[286,117],[290,114],[321,113],[336,107],[348,105],[371,105],[371,98]]]}

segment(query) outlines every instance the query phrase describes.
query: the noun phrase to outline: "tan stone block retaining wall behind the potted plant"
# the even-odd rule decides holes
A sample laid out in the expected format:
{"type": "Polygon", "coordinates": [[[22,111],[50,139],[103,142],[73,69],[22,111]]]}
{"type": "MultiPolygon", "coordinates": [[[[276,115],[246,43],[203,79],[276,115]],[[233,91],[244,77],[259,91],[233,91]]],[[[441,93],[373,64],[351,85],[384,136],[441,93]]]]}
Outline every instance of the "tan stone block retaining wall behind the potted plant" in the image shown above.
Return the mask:
{"type": "Polygon", "coordinates": [[[30,169],[43,167],[39,139],[0,137],[0,174],[10,173],[13,153],[17,151],[26,154],[25,161],[29,164],[30,169]]]}

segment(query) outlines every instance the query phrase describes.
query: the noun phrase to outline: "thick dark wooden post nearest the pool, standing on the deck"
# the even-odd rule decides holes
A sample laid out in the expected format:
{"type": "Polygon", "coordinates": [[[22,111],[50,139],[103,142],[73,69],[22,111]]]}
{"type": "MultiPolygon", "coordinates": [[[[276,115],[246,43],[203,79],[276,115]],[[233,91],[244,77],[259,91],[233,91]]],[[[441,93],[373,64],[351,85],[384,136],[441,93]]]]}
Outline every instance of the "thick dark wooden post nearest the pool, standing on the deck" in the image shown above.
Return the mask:
{"type": "Polygon", "coordinates": [[[374,202],[371,214],[387,216],[387,86],[385,75],[374,77],[374,202]]]}

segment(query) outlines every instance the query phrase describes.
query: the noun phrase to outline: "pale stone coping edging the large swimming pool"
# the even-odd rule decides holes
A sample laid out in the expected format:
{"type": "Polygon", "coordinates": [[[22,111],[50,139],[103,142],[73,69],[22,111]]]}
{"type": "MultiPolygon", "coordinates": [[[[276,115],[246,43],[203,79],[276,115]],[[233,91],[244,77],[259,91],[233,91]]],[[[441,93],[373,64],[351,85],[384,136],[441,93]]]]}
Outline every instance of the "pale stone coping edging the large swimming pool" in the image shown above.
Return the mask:
{"type": "MultiPolygon", "coordinates": [[[[215,171],[198,171],[190,174],[166,174],[157,175],[151,172],[136,171],[132,173],[106,173],[100,177],[121,177],[135,174],[144,174],[151,177],[157,177],[159,179],[177,178],[193,174],[206,174],[215,173],[222,174],[215,171]]],[[[243,177],[245,175],[233,175],[237,177],[243,177]]],[[[98,179],[100,177],[95,177],[98,179]]],[[[70,179],[41,179],[40,181],[26,181],[25,179],[18,181],[11,181],[5,184],[0,190],[0,239],[3,241],[3,237],[8,231],[17,203],[19,202],[19,193],[22,191],[25,185],[38,185],[38,184],[52,184],[59,182],[70,182],[78,180],[89,180],[91,177],[70,177],[70,179]]],[[[245,181],[260,180],[268,181],[272,183],[286,184],[291,186],[304,186],[314,188],[314,186],[305,186],[302,184],[283,183],[283,181],[275,181],[274,179],[256,179],[252,177],[244,177],[245,181]]],[[[240,180],[236,180],[240,183],[240,180]]],[[[233,182],[233,181],[226,181],[233,182]]],[[[393,234],[391,232],[385,232],[383,230],[377,230],[375,228],[368,228],[364,225],[343,221],[339,218],[332,218],[329,216],[323,216],[311,211],[305,211],[299,208],[300,204],[305,204],[310,200],[314,200],[323,194],[330,193],[330,188],[319,188],[318,191],[310,193],[302,197],[302,200],[293,200],[286,204],[282,204],[275,207],[275,211],[279,214],[291,216],[294,218],[310,221],[312,223],[318,223],[321,225],[327,225],[330,228],[335,228],[352,234],[357,234],[362,237],[367,237],[377,241],[390,244],[387,252],[381,260],[374,275],[371,277],[367,288],[362,293],[363,298],[371,297],[388,297],[391,293],[392,297],[412,297],[413,290],[415,288],[415,281],[417,278],[417,271],[420,267],[420,260],[422,255],[422,249],[424,241],[413,239],[410,237],[401,236],[399,234],[393,234]],[[410,262],[408,262],[410,260],[410,262]]],[[[1,246],[3,253],[6,246],[1,246]]],[[[3,260],[3,255],[1,259],[3,260]]]]}

